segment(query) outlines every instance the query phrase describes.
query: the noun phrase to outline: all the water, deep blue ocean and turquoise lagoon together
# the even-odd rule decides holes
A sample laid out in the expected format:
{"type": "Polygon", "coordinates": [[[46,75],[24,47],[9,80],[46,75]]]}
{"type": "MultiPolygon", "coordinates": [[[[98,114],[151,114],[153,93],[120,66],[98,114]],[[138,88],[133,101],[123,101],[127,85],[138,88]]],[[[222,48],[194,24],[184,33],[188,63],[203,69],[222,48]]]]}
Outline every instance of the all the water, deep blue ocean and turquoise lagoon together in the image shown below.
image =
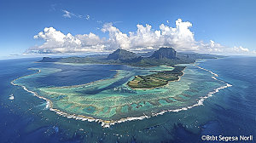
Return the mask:
{"type": "Polygon", "coordinates": [[[202,106],[198,105],[201,97],[226,84],[192,64],[186,65],[185,74],[178,82],[157,89],[132,90],[126,83],[133,76],[172,68],[33,62],[37,60],[1,60],[0,139],[3,142],[200,142],[201,134],[255,134],[255,58],[199,61],[198,66],[217,73],[218,79],[233,85],[212,94],[202,106]],[[38,70],[40,73],[33,74],[38,70]],[[101,123],[61,117],[49,111],[45,100],[10,84],[18,77],[21,78],[16,84],[52,100],[54,108],[69,114],[113,121],[148,118],[102,128],[101,123]],[[12,94],[14,100],[9,99],[12,94]],[[154,116],[167,110],[172,112],[154,116]],[[239,120],[235,121],[234,117],[239,120]]]}

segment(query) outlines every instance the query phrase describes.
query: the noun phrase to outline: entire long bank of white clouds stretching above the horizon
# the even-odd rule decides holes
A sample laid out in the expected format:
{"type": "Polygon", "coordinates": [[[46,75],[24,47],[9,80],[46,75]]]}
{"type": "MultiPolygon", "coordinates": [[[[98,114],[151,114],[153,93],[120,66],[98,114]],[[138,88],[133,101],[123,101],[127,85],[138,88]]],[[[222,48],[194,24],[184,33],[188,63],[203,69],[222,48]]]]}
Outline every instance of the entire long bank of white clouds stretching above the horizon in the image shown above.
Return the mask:
{"type": "MultiPolygon", "coordinates": [[[[70,13],[67,13],[68,17],[70,13]]],[[[63,15],[64,16],[64,15],[63,15]]],[[[177,51],[195,51],[199,53],[231,53],[246,54],[249,49],[240,47],[229,48],[210,40],[209,43],[195,41],[194,33],[190,31],[192,24],[189,21],[176,20],[176,26],[160,25],[160,30],[153,30],[146,24],[137,25],[137,31],[124,33],[112,23],[102,26],[102,32],[108,32],[107,37],[99,37],[94,33],[75,35],[63,34],[53,27],[46,27],[34,38],[44,40],[40,46],[29,50],[38,50],[48,53],[75,53],[75,52],[103,52],[115,49],[131,51],[146,51],[160,47],[172,47],[177,51]]]]}

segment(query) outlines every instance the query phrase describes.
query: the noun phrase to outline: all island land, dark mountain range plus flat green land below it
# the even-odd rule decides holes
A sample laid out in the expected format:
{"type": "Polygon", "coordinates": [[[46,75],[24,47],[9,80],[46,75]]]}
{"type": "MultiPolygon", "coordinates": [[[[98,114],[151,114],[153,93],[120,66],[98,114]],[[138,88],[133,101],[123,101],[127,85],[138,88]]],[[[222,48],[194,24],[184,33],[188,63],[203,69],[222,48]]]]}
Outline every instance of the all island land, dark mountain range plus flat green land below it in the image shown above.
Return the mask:
{"type": "Polygon", "coordinates": [[[117,49],[112,54],[95,54],[85,57],[49,58],[39,62],[116,64],[127,66],[172,66],[172,71],[151,71],[149,75],[137,75],[127,83],[131,89],[154,89],[169,82],[177,81],[183,76],[185,66],[177,64],[194,63],[196,59],[216,59],[223,56],[214,54],[177,53],[172,48],[160,48],[154,52],[133,53],[125,49],[117,49]]]}

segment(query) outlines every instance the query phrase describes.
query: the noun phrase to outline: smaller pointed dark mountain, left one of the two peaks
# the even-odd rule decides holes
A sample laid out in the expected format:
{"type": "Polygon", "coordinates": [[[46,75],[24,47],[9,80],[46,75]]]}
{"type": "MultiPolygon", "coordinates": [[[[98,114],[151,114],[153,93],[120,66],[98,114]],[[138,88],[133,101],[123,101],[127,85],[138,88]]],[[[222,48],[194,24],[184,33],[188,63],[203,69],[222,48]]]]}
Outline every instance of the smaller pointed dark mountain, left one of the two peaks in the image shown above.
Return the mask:
{"type": "Polygon", "coordinates": [[[137,58],[137,54],[125,49],[117,49],[112,54],[108,54],[107,60],[131,60],[135,58],[137,58]]]}

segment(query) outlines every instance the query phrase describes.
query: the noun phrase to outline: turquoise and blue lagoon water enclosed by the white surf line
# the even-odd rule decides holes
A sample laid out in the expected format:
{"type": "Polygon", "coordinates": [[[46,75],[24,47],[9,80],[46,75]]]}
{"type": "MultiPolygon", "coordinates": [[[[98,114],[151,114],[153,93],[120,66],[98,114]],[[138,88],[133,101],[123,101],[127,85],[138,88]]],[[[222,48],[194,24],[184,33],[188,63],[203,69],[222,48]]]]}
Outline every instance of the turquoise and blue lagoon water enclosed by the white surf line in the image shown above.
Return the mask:
{"type": "Polygon", "coordinates": [[[127,83],[134,76],[143,73],[173,68],[154,66],[145,69],[119,65],[56,66],[55,64],[49,64],[47,68],[40,66],[41,63],[38,63],[38,68],[30,68],[29,70],[35,71],[34,74],[15,79],[13,83],[32,93],[38,93],[35,95],[49,99],[50,109],[62,116],[73,118],[75,114],[76,118],[81,120],[91,119],[90,117],[94,117],[93,120],[102,119],[105,121],[102,123],[104,127],[109,126],[109,122],[142,119],[143,116],[155,116],[165,110],[179,111],[182,108],[184,110],[188,106],[194,106],[201,97],[225,84],[215,77],[212,78],[213,72],[194,64],[185,65],[187,68],[181,80],[146,90],[130,89],[127,83]],[[93,79],[99,75],[102,78],[94,81],[93,79]],[[84,83],[75,83],[80,77],[86,77],[84,83]],[[66,81],[62,82],[63,79],[66,81]],[[47,81],[55,81],[55,83],[47,83],[47,81]],[[60,83],[64,86],[59,86],[60,83]],[[70,83],[74,84],[69,85],[70,83]]]}

